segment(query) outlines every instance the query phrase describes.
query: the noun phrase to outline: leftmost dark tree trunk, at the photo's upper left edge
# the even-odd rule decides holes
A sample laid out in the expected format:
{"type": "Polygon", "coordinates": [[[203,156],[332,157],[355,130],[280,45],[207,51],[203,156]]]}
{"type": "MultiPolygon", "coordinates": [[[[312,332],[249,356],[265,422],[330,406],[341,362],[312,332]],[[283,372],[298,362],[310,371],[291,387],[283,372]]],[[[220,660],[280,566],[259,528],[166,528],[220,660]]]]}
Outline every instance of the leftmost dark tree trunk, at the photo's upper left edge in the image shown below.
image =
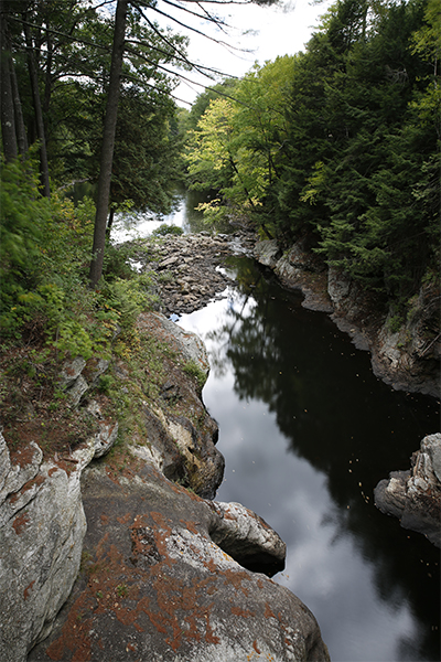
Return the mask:
{"type": "Polygon", "coordinates": [[[15,139],[15,118],[12,103],[10,60],[11,51],[7,35],[7,15],[3,2],[0,3],[1,19],[1,61],[0,61],[0,114],[1,114],[1,137],[3,142],[3,152],[6,161],[11,161],[17,158],[17,139],[15,139]]]}

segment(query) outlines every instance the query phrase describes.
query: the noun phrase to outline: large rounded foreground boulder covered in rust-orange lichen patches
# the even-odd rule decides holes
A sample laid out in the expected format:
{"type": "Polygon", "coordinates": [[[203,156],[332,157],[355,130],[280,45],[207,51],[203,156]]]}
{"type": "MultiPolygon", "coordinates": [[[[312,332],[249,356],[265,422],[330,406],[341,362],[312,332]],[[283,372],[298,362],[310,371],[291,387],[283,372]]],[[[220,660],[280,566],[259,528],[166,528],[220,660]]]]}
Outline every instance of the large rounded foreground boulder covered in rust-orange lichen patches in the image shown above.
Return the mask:
{"type": "Polygon", "coordinates": [[[29,662],[330,659],[310,610],[233,558],[238,519],[251,519],[255,551],[262,544],[270,552],[269,536],[258,533],[258,519],[245,509],[213,508],[149,463],[117,479],[103,466],[89,468],[83,494],[89,560],[29,662]],[[228,510],[230,554],[213,540],[228,527],[228,510]]]}

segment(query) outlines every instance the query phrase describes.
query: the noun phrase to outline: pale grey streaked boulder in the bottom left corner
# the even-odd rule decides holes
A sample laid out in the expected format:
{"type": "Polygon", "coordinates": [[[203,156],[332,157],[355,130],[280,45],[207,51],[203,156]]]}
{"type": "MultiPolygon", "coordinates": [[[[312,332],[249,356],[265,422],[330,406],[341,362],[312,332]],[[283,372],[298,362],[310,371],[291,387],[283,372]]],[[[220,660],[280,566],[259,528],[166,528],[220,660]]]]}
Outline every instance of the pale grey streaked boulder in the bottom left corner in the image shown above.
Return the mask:
{"type": "Polygon", "coordinates": [[[26,659],[72,590],[86,533],[79,479],[101,451],[90,438],[69,456],[44,461],[33,441],[10,453],[0,434],[2,662],[26,659]]]}

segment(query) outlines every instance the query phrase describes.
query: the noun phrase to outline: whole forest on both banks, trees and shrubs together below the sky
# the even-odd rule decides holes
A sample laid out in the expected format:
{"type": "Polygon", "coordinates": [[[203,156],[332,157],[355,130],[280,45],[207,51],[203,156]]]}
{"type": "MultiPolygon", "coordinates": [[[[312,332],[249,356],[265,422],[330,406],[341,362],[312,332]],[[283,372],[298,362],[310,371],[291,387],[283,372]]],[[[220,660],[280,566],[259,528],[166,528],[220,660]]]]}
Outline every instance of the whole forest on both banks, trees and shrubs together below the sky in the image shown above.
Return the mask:
{"type": "Polygon", "coordinates": [[[155,20],[172,4],[1,0],[2,348],[108,351],[154,299],[114,214],[169,212],[179,181],[209,193],[208,226],[304,238],[405,319],[439,279],[440,0],[337,0],[304,52],[190,110],[173,97],[189,38],[155,20]]]}

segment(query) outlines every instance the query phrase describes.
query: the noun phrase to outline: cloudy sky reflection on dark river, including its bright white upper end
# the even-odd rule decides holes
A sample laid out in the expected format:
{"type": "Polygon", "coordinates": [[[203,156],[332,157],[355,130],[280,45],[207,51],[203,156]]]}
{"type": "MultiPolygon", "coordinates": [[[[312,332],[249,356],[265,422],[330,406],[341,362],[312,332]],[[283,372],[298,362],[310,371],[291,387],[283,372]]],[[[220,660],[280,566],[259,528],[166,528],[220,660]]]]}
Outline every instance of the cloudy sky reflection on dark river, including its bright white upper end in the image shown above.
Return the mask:
{"type": "MultiPolygon", "coordinates": [[[[247,397],[240,391],[234,366],[237,355],[232,361],[230,344],[235,335],[240,335],[241,320],[257,314],[258,310],[252,297],[244,297],[234,290],[229,290],[229,295],[201,311],[184,316],[179,322],[204,339],[214,365],[203,396],[207,409],[219,424],[218,448],[226,457],[225,479],[217,500],[245,504],[281,535],[288,546],[287,567],[275,579],[313,611],[334,662],[434,659],[421,654],[421,641],[427,631],[426,634],[420,631],[420,621],[413,613],[401,577],[398,580],[389,577],[390,568],[384,562],[389,543],[385,543],[385,551],[377,554],[375,533],[369,537],[370,530],[375,532],[386,523],[387,532],[394,533],[398,524],[381,515],[372,501],[365,503],[361,490],[351,487],[353,483],[348,483],[352,491],[346,488],[336,493],[338,476],[318,469],[326,466],[326,461],[321,459],[314,466],[308,459],[308,451],[303,457],[304,448],[297,449],[294,439],[280,430],[278,419],[283,417],[278,401],[270,407],[265,399],[247,397]],[[232,316],[232,309],[236,316],[232,316]],[[213,333],[220,328],[220,332],[213,333]],[[331,491],[330,481],[333,482],[331,491]],[[338,503],[338,499],[346,499],[349,509],[345,503],[338,503]],[[367,517],[365,522],[364,517],[367,517]],[[388,577],[383,590],[378,586],[381,574],[388,577]]],[[[261,319],[257,319],[258,329],[261,324],[261,319]]],[[[349,355],[354,355],[352,349],[347,360],[349,355]]],[[[251,356],[248,360],[251,361],[251,356]]],[[[365,377],[359,367],[358,375],[361,380],[365,377]]],[[[330,420],[329,426],[332,425],[330,420]]],[[[326,429],[326,423],[318,429],[326,429]]],[[[333,444],[335,441],[330,437],[331,466],[333,444]]],[[[377,535],[380,537],[383,533],[377,535]]],[[[399,546],[406,534],[398,527],[397,535],[396,545],[399,546]]],[[[424,543],[417,541],[423,549],[424,543]]],[[[430,554],[429,557],[432,558],[430,554]]],[[[405,564],[406,572],[415,570],[410,567],[412,564],[415,558],[410,556],[408,566],[405,564]]]]}

